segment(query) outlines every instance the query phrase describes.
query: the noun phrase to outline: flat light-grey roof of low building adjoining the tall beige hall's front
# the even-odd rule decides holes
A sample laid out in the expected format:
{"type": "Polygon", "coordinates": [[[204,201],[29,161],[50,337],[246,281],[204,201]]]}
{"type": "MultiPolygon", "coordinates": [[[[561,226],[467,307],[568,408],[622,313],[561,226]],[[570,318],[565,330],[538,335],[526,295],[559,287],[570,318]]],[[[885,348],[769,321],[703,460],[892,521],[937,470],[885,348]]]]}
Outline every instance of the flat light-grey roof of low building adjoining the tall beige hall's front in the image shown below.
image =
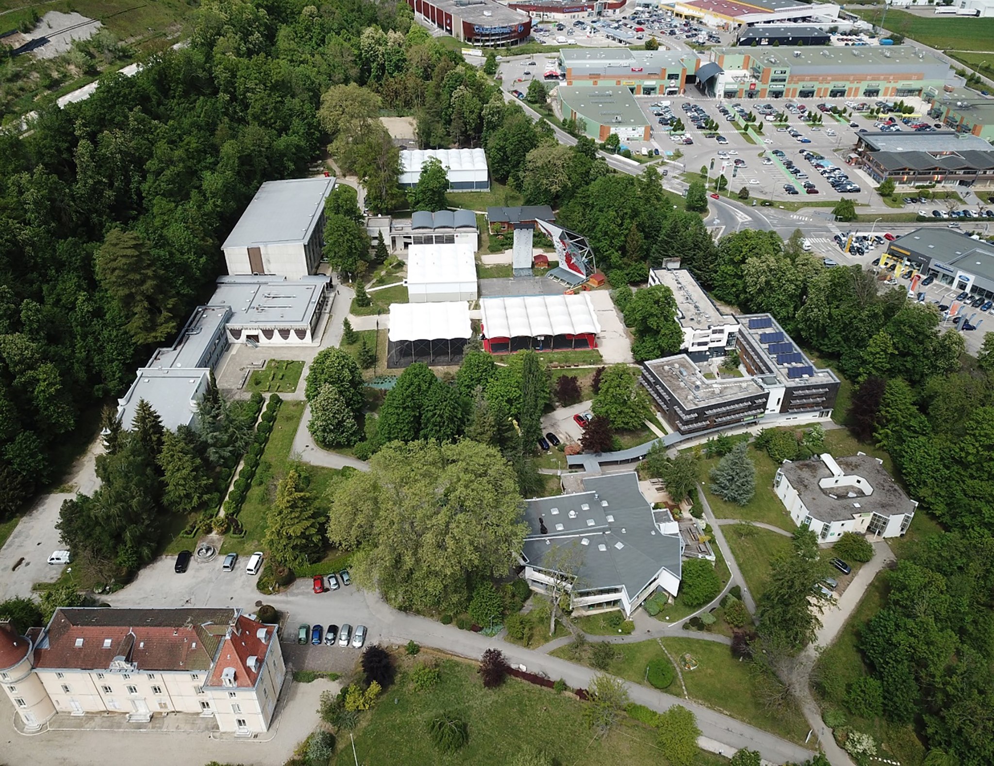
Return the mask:
{"type": "Polygon", "coordinates": [[[300,279],[223,276],[211,304],[232,307],[229,325],[309,324],[328,281],[321,274],[300,279]]]}

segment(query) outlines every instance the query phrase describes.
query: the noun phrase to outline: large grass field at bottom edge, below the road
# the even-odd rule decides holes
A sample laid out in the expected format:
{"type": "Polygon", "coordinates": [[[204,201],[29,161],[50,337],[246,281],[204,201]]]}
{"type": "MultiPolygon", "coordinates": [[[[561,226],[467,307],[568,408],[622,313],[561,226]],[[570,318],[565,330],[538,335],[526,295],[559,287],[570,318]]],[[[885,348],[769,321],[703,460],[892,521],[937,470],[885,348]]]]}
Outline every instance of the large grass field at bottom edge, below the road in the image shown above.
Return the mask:
{"type": "MultiPolygon", "coordinates": [[[[428,659],[426,653],[418,661],[428,659]]],[[[411,661],[405,659],[410,667],[411,661]]],[[[583,720],[583,702],[552,689],[508,679],[497,689],[483,689],[476,666],[453,660],[439,664],[441,678],[430,691],[415,691],[405,674],[387,689],[380,703],[364,713],[355,732],[360,763],[503,764],[527,746],[545,750],[555,763],[570,766],[665,766],[655,731],[622,715],[605,736],[593,736],[583,720]],[[428,722],[451,710],[469,724],[469,740],[451,755],[440,754],[427,735],[428,722]],[[403,754],[403,756],[402,756],[403,754]]],[[[335,766],[355,763],[348,737],[339,739],[335,766]]],[[[720,766],[724,758],[699,753],[694,766],[720,766]]]]}

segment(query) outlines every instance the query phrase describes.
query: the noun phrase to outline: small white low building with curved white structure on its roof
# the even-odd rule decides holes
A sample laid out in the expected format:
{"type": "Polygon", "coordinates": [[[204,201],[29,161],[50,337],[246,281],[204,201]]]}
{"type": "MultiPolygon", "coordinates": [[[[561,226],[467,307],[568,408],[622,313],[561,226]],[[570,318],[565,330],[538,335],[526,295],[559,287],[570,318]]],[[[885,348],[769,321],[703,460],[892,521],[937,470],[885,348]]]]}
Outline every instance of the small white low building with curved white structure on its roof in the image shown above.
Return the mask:
{"type": "Polygon", "coordinates": [[[785,460],[773,479],[791,520],[824,542],[847,532],[897,537],[908,532],[917,502],[911,500],[883,461],[862,452],[833,458],[785,460]]]}

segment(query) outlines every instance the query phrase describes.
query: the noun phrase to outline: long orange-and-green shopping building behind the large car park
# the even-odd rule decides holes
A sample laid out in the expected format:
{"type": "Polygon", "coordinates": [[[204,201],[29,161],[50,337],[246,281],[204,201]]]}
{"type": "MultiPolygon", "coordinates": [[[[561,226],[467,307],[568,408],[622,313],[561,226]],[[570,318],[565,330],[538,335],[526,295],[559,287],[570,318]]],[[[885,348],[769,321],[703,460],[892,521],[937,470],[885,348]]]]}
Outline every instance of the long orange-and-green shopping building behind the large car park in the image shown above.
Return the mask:
{"type": "Polygon", "coordinates": [[[703,89],[718,98],[907,98],[941,90],[949,65],[911,46],[715,48],[703,89]]]}

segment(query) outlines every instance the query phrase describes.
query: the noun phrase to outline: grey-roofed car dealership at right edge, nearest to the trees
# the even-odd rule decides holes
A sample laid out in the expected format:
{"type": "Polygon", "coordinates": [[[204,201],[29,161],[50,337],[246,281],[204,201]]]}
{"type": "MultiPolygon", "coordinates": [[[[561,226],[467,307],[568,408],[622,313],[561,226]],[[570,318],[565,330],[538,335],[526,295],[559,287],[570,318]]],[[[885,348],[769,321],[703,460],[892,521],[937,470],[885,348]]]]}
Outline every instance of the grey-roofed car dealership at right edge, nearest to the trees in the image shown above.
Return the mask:
{"type": "Polygon", "coordinates": [[[945,227],[922,227],[888,243],[881,266],[893,259],[973,296],[994,298],[994,245],[945,227]]]}

